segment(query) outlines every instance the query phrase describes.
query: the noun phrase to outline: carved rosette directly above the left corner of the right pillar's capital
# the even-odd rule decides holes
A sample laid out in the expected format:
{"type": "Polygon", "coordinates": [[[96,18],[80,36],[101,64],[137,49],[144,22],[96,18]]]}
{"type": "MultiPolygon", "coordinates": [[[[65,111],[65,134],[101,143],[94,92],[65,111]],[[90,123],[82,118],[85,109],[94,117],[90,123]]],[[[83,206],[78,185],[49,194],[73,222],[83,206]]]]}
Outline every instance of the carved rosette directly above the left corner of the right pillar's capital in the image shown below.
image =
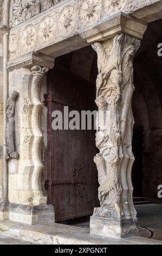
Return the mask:
{"type": "Polygon", "coordinates": [[[87,26],[101,17],[100,0],[82,0],[79,11],[79,19],[83,26],[87,26]]]}

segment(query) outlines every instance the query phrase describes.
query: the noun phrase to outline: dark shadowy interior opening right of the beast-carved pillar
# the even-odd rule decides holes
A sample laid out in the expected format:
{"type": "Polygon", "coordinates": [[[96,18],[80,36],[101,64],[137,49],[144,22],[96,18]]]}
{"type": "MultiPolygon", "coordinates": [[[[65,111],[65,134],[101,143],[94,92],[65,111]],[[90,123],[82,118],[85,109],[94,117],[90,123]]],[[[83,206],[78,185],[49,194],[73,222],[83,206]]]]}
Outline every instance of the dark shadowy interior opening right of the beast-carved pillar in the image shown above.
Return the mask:
{"type": "Polygon", "coordinates": [[[162,20],[148,23],[134,58],[134,196],[158,199],[162,184],[162,20]]]}

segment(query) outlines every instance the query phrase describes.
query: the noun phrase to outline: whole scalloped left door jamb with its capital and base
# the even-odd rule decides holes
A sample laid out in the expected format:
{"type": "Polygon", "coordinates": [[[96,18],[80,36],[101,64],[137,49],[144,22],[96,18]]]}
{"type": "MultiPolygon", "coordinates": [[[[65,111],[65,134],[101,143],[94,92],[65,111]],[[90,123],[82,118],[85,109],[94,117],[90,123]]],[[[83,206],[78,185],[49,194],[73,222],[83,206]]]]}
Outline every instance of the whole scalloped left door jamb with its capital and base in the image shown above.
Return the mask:
{"type": "Polygon", "coordinates": [[[19,94],[15,117],[18,160],[9,160],[9,219],[28,224],[54,222],[54,208],[47,205],[41,187],[43,164],[40,127],[43,76],[54,66],[54,59],[30,53],[10,63],[9,94],[19,94]]]}

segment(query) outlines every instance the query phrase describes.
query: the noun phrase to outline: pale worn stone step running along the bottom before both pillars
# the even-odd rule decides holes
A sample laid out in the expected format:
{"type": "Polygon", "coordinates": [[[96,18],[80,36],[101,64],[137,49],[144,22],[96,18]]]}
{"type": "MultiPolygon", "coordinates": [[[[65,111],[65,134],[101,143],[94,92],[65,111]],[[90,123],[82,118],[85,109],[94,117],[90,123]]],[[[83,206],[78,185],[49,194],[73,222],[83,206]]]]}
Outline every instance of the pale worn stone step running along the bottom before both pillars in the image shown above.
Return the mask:
{"type": "MultiPolygon", "coordinates": [[[[89,234],[89,228],[59,223],[26,225],[11,221],[0,222],[0,235],[38,245],[161,245],[162,241],[141,236],[126,239],[109,239],[89,234]]],[[[15,240],[15,241],[16,241],[15,240]]]]}

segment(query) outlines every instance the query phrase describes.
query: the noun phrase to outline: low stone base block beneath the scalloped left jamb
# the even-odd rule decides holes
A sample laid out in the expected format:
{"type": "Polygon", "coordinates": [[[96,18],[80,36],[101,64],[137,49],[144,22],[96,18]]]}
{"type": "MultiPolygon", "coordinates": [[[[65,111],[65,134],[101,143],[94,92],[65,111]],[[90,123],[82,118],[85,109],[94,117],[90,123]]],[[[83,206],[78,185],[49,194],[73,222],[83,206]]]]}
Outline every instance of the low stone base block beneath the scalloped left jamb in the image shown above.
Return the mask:
{"type": "Polygon", "coordinates": [[[54,206],[10,204],[9,220],[36,225],[55,222],[54,206]]]}

